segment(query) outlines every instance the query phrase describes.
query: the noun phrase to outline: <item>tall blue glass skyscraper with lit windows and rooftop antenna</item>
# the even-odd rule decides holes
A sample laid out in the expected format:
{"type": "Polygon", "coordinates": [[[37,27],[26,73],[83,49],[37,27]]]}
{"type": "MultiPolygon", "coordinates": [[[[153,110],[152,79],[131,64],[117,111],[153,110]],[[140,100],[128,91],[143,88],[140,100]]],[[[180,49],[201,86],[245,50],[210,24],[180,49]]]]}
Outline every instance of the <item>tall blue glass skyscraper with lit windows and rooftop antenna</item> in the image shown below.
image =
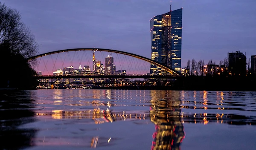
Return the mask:
{"type": "MultiPolygon", "coordinates": [[[[182,8],[154,16],[150,32],[151,59],[181,72],[182,8]]],[[[166,74],[166,71],[151,64],[150,74],[166,74]]]]}

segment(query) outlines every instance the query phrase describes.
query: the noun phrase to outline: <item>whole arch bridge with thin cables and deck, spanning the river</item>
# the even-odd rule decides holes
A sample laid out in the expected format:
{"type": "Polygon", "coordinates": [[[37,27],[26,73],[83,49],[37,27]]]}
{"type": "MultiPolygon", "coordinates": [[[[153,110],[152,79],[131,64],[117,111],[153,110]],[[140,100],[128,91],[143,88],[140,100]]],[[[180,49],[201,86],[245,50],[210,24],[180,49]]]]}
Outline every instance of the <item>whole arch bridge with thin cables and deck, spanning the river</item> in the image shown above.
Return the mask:
{"type": "MultiPolygon", "coordinates": [[[[163,65],[159,62],[156,62],[152,59],[149,59],[137,54],[125,52],[125,51],[117,51],[117,50],[104,49],[104,48],[73,48],[73,49],[65,49],[65,50],[59,50],[59,51],[51,51],[51,52],[30,57],[27,60],[28,62],[32,60],[37,60],[37,66],[34,67],[34,69],[37,71],[35,78],[40,79],[41,82],[44,82],[45,80],[49,80],[49,79],[51,79],[51,83],[58,82],[60,81],[60,79],[66,82],[68,79],[69,81],[71,81],[70,80],[71,78],[72,79],[84,79],[84,78],[87,78],[87,79],[88,78],[93,78],[93,79],[95,78],[98,78],[98,79],[99,78],[102,78],[102,79],[103,78],[104,79],[114,79],[114,78],[175,79],[180,76],[183,76],[178,71],[175,71],[174,69],[169,68],[168,66],[163,65]],[[104,65],[105,64],[107,65],[107,63],[105,62],[104,64],[102,62],[104,61],[104,59],[107,61],[107,57],[105,56],[108,56],[108,55],[105,55],[105,54],[95,55],[94,53],[95,54],[108,53],[111,55],[112,54],[115,55],[113,56],[113,58],[115,59],[115,62],[116,60],[119,59],[119,62],[117,62],[118,65],[116,65],[116,69],[115,69],[115,70],[118,70],[118,67],[119,67],[120,70],[118,74],[116,74],[115,72],[112,72],[111,74],[106,73],[106,70],[108,70],[108,67],[104,65]],[[72,68],[74,66],[73,65],[74,63],[80,64],[79,68],[81,69],[81,64],[85,63],[84,59],[82,59],[83,55],[86,57],[85,61],[87,61],[87,65],[85,65],[84,67],[87,66],[89,68],[89,71],[76,72],[77,70],[73,68],[73,72],[69,70],[67,71],[67,73],[64,73],[64,70],[61,70],[62,68],[64,69],[67,66],[70,66],[72,68]],[[102,57],[97,61],[96,58],[99,58],[99,56],[102,56],[102,57]],[[74,59],[75,57],[76,59],[74,59]],[[48,59],[44,59],[44,58],[48,58],[48,59]],[[65,64],[67,59],[70,60],[70,62],[68,63],[69,65],[65,64]],[[153,76],[147,74],[145,71],[148,72],[150,70],[151,64],[157,66],[158,68],[162,68],[164,74],[153,75],[153,76]],[[103,66],[102,68],[105,69],[105,71],[102,71],[102,68],[101,70],[99,69],[100,71],[96,71],[95,68],[97,67],[100,68],[100,66],[103,66]],[[120,68],[120,66],[122,67],[120,68]],[[49,69],[49,67],[52,67],[52,69],[49,69]],[[61,68],[61,69],[57,69],[57,68],[61,68]],[[93,68],[93,71],[91,71],[91,68],[93,68]],[[127,68],[129,68],[130,70],[127,70],[127,68]],[[63,72],[60,74],[58,70],[63,72]],[[137,72],[134,70],[136,70],[137,72]],[[120,71],[125,71],[125,73],[120,71]]],[[[79,83],[81,82],[82,81],[80,80],[79,83]]]]}

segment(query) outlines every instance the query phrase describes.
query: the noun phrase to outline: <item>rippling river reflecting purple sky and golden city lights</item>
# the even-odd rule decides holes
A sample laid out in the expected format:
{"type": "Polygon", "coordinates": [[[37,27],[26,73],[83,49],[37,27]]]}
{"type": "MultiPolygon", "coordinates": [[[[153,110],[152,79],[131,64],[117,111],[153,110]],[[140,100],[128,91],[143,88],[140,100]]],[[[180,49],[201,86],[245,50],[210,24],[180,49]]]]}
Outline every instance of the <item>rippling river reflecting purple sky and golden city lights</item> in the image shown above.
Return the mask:
{"type": "Polygon", "coordinates": [[[256,92],[0,94],[0,149],[256,150],[256,92]]]}

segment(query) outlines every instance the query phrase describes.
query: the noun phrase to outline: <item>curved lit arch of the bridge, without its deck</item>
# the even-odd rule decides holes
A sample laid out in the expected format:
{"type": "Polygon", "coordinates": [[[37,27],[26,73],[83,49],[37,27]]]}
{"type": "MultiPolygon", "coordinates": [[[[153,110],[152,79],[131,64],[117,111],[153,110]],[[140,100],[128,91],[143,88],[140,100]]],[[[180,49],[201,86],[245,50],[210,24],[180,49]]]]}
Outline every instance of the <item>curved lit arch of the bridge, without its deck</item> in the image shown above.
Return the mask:
{"type": "MultiPolygon", "coordinates": [[[[152,59],[149,59],[149,58],[137,55],[137,54],[128,53],[128,52],[125,52],[125,51],[116,51],[116,50],[111,50],[111,49],[97,49],[97,48],[66,49],[66,50],[52,51],[52,52],[48,52],[48,53],[44,53],[44,54],[39,54],[39,55],[36,55],[34,57],[30,57],[27,60],[29,61],[29,60],[36,59],[36,58],[39,58],[39,57],[44,57],[44,56],[47,56],[47,55],[58,54],[58,53],[68,52],[68,51],[106,51],[106,52],[112,52],[112,53],[116,53],[116,54],[123,54],[123,55],[131,56],[131,57],[135,57],[137,59],[142,59],[142,60],[144,60],[146,62],[150,62],[151,64],[156,65],[157,67],[163,68],[165,71],[169,72],[172,75],[182,76],[182,74],[180,74],[179,72],[175,71],[174,69],[169,68],[166,65],[162,65],[162,64],[160,64],[160,63],[158,63],[158,62],[156,62],[156,61],[154,61],[152,59]]],[[[154,76],[154,78],[155,78],[155,76],[154,76]]]]}

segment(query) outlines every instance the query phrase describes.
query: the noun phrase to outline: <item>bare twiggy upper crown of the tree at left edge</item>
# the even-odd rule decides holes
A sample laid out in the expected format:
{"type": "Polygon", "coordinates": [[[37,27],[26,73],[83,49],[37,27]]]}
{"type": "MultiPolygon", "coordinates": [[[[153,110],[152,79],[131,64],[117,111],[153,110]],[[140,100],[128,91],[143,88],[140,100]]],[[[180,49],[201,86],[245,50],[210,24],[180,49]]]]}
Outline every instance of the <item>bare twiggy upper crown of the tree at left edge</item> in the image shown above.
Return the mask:
{"type": "Polygon", "coordinates": [[[21,54],[24,58],[34,56],[38,44],[29,28],[21,22],[20,13],[0,2],[0,45],[4,45],[12,54],[21,54]]]}

